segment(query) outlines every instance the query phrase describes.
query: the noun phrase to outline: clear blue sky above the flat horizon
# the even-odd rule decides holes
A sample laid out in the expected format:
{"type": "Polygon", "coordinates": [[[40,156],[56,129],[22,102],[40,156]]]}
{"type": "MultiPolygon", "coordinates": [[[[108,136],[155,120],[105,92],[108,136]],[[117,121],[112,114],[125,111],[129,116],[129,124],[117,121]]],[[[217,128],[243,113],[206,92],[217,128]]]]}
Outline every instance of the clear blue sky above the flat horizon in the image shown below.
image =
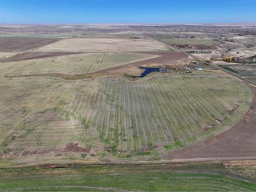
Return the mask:
{"type": "Polygon", "coordinates": [[[0,0],[0,23],[256,23],[256,0],[0,0]]]}

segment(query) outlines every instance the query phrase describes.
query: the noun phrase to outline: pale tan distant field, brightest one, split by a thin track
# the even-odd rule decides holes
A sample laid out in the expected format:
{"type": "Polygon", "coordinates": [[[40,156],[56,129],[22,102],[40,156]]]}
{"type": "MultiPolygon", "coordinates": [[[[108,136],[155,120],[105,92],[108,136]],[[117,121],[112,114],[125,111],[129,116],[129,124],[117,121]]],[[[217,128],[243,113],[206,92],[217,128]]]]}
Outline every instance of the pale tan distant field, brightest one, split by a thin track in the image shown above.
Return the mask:
{"type": "Polygon", "coordinates": [[[44,46],[35,51],[47,52],[106,52],[106,51],[166,51],[169,50],[160,42],[147,39],[121,38],[68,38],[44,46]]]}

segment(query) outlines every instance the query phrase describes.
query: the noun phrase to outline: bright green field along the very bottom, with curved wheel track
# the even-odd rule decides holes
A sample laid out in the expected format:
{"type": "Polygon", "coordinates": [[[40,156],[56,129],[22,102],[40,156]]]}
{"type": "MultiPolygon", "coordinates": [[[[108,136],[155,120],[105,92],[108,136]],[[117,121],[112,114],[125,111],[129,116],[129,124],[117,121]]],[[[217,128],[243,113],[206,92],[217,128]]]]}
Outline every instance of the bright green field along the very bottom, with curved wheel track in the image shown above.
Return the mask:
{"type": "Polygon", "coordinates": [[[0,179],[0,189],[46,190],[143,190],[212,191],[256,190],[256,185],[237,178],[207,173],[89,173],[78,175],[26,176],[0,179]]]}

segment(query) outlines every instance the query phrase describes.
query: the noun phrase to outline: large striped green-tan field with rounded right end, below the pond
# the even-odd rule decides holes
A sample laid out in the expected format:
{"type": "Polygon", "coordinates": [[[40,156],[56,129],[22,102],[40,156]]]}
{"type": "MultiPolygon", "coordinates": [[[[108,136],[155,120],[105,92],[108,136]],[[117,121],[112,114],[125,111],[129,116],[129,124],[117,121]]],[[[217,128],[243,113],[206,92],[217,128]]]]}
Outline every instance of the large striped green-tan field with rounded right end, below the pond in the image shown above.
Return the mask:
{"type": "Polygon", "coordinates": [[[240,81],[214,76],[0,82],[1,166],[157,159],[228,129],[253,95],[240,81]]]}

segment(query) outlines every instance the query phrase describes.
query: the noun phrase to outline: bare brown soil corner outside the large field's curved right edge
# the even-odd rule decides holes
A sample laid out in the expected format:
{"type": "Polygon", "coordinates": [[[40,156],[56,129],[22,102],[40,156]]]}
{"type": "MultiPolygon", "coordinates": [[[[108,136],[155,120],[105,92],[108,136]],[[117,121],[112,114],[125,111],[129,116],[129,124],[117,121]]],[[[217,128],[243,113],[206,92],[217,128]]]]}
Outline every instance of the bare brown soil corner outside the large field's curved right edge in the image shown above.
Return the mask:
{"type": "Polygon", "coordinates": [[[217,157],[255,157],[256,155],[256,89],[250,110],[228,131],[211,139],[183,148],[162,158],[197,159],[217,157]]]}

